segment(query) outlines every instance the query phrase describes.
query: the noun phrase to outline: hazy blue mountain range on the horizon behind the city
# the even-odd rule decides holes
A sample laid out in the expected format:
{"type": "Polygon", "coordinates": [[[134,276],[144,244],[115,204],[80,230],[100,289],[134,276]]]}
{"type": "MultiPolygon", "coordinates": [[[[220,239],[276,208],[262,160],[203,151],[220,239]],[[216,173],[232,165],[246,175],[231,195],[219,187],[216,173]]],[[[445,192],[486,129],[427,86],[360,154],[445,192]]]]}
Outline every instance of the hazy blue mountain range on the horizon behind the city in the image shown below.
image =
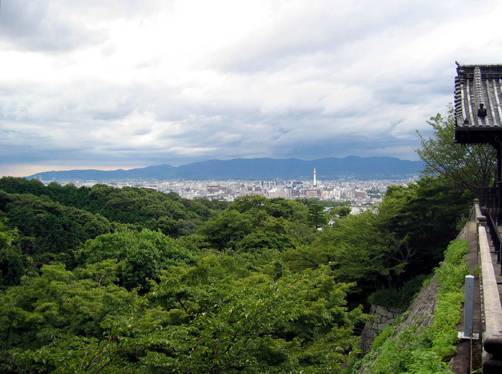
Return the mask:
{"type": "Polygon", "coordinates": [[[326,158],[313,161],[298,159],[232,159],[208,160],[187,165],[158,165],[130,170],[66,170],[36,173],[27,177],[43,180],[110,180],[110,179],[242,179],[273,180],[311,179],[316,168],[317,179],[359,178],[390,179],[418,175],[422,161],[400,160],[393,157],[326,158]]]}

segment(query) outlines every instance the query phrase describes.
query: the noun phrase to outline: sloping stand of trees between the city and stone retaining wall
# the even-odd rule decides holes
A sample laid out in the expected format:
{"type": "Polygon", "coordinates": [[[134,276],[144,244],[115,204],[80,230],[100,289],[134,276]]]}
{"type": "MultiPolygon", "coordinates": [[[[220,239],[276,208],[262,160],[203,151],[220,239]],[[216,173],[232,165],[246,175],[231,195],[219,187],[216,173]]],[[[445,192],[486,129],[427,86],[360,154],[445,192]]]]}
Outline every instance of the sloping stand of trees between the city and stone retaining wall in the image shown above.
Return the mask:
{"type": "Polygon", "coordinates": [[[360,303],[373,291],[430,273],[455,237],[455,219],[467,203],[440,179],[392,186],[378,208],[334,217],[313,242],[288,249],[285,261],[296,271],[330,264],[337,279],[357,282],[360,303]]]}

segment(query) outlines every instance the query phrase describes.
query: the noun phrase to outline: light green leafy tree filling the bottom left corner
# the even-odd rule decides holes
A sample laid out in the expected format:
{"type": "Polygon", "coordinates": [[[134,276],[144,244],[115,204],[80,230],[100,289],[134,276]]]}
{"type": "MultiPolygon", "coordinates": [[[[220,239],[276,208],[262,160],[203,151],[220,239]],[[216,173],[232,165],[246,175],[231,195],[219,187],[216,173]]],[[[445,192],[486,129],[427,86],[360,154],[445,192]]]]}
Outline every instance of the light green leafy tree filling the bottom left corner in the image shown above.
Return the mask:
{"type": "Polygon", "coordinates": [[[0,371],[66,372],[64,365],[75,364],[72,357],[79,357],[79,364],[89,361],[90,352],[81,350],[86,342],[102,345],[113,323],[123,324],[146,306],[136,293],[96,281],[113,271],[111,262],[86,274],[45,266],[41,277],[0,294],[0,371]]]}

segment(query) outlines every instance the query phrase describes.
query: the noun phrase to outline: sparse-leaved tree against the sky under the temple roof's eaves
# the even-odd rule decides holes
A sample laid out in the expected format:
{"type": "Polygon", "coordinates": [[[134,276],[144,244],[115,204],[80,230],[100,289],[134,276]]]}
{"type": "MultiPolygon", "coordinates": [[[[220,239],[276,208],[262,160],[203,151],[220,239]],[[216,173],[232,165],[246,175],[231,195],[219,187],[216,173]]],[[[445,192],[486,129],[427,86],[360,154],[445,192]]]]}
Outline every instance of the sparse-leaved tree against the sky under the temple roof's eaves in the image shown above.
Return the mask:
{"type": "Polygon", "coordinates": [[[441,177],[459,194],[469,191],[477,195],[478,187],[494,186],[495,149],[489,145],[453,143],[455,118],[451,104],[446,117],[438,113],[427,123],[434,129],[432,138],[424,138],[417,131],[421,147],[416,152],[425,163],[424,175],[441,177]]]}

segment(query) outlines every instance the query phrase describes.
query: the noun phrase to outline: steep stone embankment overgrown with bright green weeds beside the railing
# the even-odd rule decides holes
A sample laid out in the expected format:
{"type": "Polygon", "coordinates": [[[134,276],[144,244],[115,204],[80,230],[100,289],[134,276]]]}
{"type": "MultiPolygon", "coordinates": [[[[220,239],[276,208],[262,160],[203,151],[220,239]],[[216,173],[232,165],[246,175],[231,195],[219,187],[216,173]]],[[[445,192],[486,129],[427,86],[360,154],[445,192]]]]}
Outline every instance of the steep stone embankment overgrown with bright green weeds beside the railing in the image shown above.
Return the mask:
{"type": "MultiPolygon", "coordinates": [[[[456,335],[462,329],[464,276],[477,264],[477,257],[469,255],[475,252],[475,245],[469,244],[476,240],[471,224],[459,234],[462,238],[451,242],[445,261],[408,310],[374,339],[354,373],[469,372],[469,342],[459,342],[456,335]]],[[[479,344],[474,355],[474,368],[480,367],[479,344]]]]}

